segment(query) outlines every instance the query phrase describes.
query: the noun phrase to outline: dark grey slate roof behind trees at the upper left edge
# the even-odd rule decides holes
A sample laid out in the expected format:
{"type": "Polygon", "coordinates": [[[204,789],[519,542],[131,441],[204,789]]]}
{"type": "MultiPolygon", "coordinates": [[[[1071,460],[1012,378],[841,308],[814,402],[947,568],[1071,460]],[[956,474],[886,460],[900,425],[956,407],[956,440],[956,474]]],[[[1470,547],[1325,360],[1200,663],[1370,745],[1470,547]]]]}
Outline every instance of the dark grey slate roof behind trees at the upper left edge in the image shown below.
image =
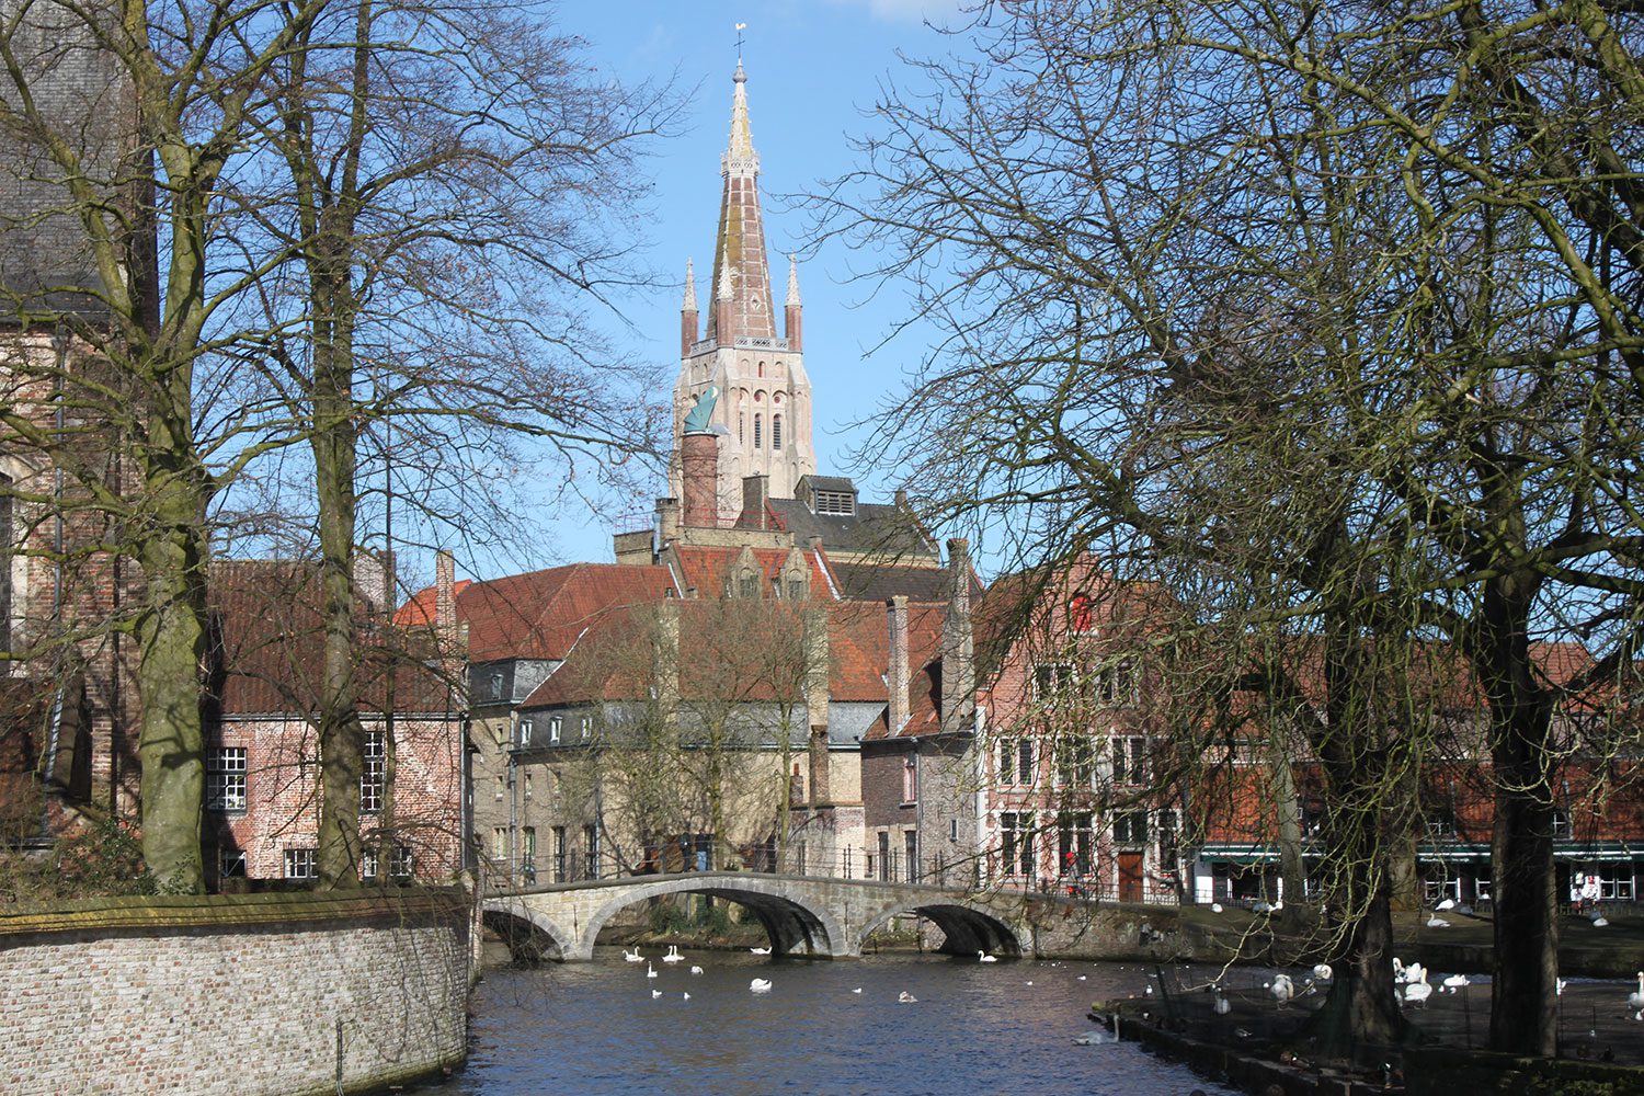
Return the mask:
{"type": "MultiPolygon", "coordinates": [[[[122,173],[136,166],[127,159],[136,143],[135,107],[118,61],[92,46],[84,26],[58,5],[35,5],[15,48],[33,72],[28,87],[44,125],[81,154],[82,174],[105,194],[130,192],[122,173]]],[[[0,99],[15,100],[10,81],[0,81],[0,99]]],[[[39,135],[0,130],[0,291],[10,297],[0,299],[0,319],[20,307],[89,319],[105,312],[62,179],[39,135]],[[74,286],[87,289],[67,289],[74,286]]]]}

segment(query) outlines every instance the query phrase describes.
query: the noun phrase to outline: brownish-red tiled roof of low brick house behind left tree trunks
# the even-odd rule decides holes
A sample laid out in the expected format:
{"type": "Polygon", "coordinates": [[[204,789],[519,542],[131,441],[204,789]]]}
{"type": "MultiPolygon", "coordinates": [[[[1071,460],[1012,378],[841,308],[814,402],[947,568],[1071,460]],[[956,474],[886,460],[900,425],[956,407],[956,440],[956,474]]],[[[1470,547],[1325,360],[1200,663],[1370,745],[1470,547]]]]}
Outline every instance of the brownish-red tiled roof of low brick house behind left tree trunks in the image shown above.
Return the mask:
{"type": "MultiPolygon", "coordinates": [[[[219,715],[307,715],[324,674],[319,567],[306,560],[217,560],[207,605],[215,629],[210,693],[219,715]]],[[[395,669],[395,711],[447,711],[450,687],[427,665],[427,638],[362,629],[360,708],[381,710],[395,669]],[[403,639],[403,642],[396,642],[403,639]]]]}

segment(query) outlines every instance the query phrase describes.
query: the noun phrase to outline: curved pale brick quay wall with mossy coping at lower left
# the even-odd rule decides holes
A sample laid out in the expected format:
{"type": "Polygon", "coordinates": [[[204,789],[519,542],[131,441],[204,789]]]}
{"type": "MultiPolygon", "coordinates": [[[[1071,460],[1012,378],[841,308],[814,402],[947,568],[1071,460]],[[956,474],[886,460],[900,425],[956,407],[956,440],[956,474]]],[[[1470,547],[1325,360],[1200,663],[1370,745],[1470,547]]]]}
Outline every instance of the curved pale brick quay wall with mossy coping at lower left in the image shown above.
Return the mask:
{"type": "Polygon", "coordinates": [[[460,889],[0,912],[0,1091],[335,1096],[467,1053],[460,889]]]}

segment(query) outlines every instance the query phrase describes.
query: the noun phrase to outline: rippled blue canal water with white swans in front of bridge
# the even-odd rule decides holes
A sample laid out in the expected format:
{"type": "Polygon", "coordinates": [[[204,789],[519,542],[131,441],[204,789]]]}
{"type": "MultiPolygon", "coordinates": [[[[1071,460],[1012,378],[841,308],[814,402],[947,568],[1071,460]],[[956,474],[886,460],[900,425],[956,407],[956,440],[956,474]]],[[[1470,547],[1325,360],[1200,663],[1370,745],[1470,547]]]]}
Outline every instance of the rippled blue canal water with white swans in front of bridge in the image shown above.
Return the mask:
{"type": "Polygon", "coordinates": [[[575,1093],[1023,1093],[1187,1096],[1220,1088],[1136,1043],[1075,1045],[1090,1002],[1139,994],[1138,966],[880,955],[845,961],[686,951],[490,969],[447,1096],[575,1093]],[[690,974],[690,966],[704,968],[690,974]],[[1080,981],[1083,976],[1083,981],[1080,981]],[[755,978],[771,981],[750,992],[755,978]],[[860,991],[860,992],[857,992],[860,991]],[[653,996],[661,992],[659,997],[653,996]],[[686,999],[684,994],[690,994],[686,999]],[[904,1004],[901,994],[917,1001],[904,1004]]]}

